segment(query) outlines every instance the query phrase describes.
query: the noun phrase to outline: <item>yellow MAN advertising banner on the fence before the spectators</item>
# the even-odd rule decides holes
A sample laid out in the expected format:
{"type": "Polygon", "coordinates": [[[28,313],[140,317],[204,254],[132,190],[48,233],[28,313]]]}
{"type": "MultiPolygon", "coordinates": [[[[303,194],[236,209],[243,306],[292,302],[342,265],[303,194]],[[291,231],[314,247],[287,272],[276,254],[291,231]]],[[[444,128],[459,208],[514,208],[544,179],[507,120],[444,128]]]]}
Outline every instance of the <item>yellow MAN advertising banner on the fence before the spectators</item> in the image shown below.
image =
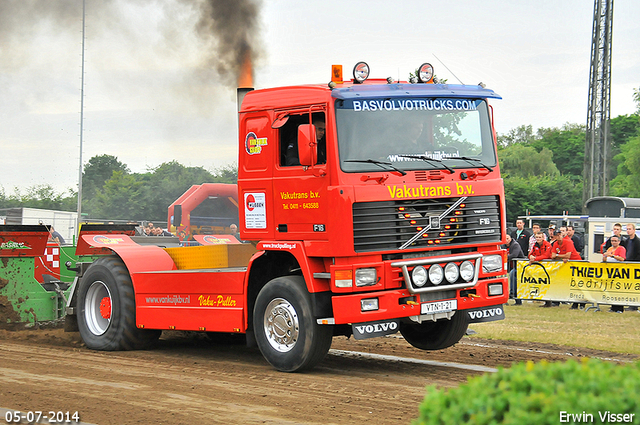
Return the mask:
{"type": "Polygon", "coordinates": [[[640,306],[640,263],[518,261],[518,298],[640,306]]]}

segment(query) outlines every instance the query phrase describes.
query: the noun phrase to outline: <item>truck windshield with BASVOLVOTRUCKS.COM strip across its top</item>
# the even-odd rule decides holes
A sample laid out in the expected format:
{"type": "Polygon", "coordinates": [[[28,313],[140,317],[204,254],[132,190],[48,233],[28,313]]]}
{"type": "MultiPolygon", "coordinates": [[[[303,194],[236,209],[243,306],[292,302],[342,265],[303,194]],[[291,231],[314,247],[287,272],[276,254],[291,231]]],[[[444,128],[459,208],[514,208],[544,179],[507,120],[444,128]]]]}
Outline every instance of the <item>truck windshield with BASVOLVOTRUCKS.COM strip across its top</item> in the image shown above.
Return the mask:
{"type": "Polygon", "coordinates": [[[380,171],[382,163],[390,163],[389,170],[496,165],[484,100],[340,99],[336,121],[340,164],[346,172],[380,171]]]}

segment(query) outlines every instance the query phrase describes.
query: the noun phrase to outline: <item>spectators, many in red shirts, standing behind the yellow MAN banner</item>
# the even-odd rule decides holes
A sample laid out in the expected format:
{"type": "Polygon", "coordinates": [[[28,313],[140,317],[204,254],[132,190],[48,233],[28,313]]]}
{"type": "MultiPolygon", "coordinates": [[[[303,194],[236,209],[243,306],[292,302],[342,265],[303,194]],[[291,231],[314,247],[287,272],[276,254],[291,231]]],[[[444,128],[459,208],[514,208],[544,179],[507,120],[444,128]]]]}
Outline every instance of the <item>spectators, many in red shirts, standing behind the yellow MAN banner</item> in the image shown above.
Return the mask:
{"type": "MultiPolygon", "coordinates": [[[[508,271],[510,298],[515,300],[515,305],[521,305],[522,300],[517,298],[516,260],[528,259],[529,264],[542,260],[577,261],[582,260],[584,241],[575,232],[573,226],[550,225],[547,233],[542,232],[540,224],[533,223],[532,233],[524,228],[524,220],[516,221],[516,230],[507,234],[505,249],[508,249],[508,271]]],[[[601,246],[603,262],[640,261],[640,238],[636,236],[636,226],[629,223],[626,226],[627,236],[622,235],[622,225],[613,225],[612,235],[601,246]]],[[[546,301],[543,307],[559,305],[558,302],[546,301]]],[[[583,303],[573,303],[571,308],[584,307],[583,303]]],[[[631,310],[637,308],[631,307],[631,310]]],[[[624,306],[613,305],[609,310],[622,313],[624,306]]]]}

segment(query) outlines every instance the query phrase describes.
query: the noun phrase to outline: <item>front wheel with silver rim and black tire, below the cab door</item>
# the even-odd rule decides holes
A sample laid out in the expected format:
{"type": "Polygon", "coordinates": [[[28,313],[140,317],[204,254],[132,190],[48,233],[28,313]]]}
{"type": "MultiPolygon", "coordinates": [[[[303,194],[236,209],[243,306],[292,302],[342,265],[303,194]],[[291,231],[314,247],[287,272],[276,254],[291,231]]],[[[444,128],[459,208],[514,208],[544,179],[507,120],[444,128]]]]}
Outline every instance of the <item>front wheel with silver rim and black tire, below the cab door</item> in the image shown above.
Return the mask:
{"type": "Polygon", "coordinates": [[[320,363],[333,337],[331,326],[316,323],[301,276],[275,278],[260,290],[253,329],[264,358],[282,372],[298,372],[320,363]]]}

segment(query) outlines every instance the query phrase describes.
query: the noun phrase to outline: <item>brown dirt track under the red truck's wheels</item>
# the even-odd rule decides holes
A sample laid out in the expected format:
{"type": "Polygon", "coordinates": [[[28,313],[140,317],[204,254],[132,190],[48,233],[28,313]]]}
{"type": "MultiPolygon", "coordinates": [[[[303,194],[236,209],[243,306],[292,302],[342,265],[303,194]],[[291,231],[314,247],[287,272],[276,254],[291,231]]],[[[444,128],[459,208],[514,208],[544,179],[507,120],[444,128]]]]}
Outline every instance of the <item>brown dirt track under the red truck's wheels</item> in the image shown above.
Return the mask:
{"type": "MultiPolygon", "coordinates": [[[[423,352],[396,336],[336,337],[332,350],[485,367],[570,356],[634,358],[470,338],[423,352]]],[[[82,422],[100,425],[408,424],[427,385],[451,387],[480,373],[332,351],[313,371],[287,374],[257,349],[215,344],[200,334],[165,333],[150,351],[97,352],[61,329],[0,330],[0,362],[0,407],[78,411],[82,422]]]]}

